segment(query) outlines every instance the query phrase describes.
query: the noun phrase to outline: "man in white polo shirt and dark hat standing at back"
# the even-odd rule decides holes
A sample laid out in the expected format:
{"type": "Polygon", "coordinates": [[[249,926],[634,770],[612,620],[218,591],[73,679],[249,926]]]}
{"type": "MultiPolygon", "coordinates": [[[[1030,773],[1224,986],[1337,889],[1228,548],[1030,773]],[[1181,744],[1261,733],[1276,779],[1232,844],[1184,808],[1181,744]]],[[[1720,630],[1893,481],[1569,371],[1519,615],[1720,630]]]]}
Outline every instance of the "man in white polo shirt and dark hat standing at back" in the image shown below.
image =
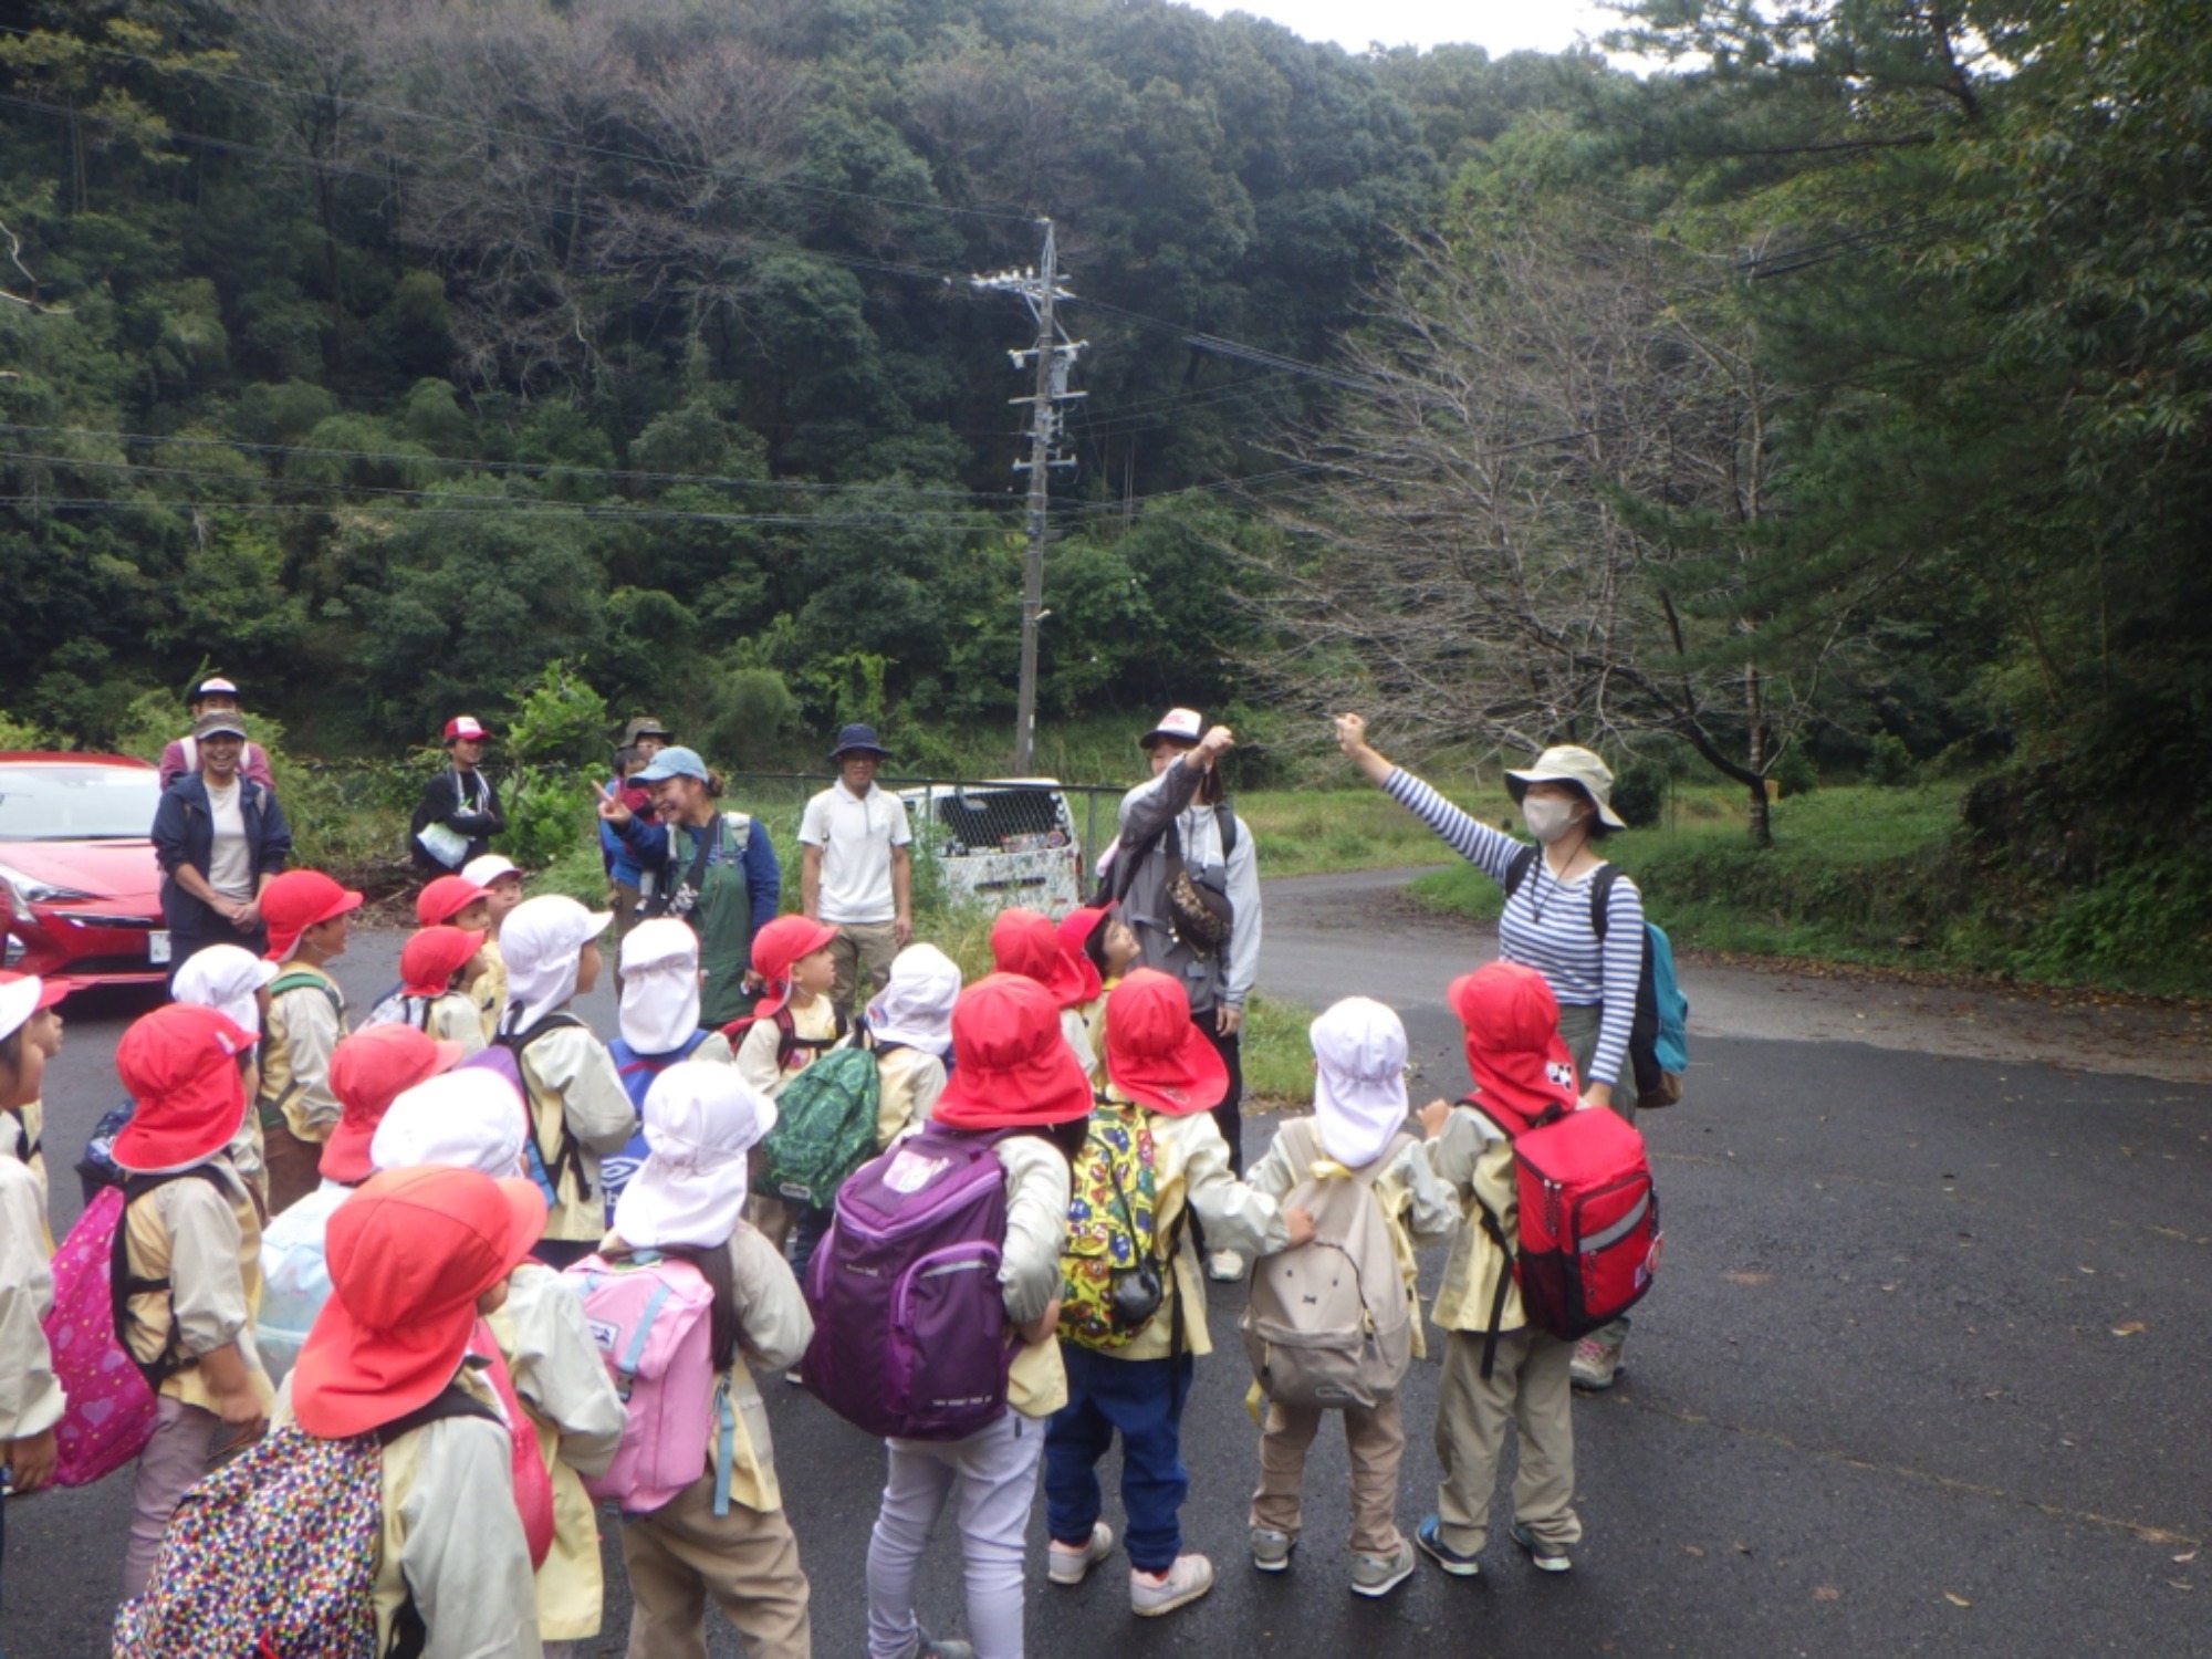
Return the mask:
{"type": "Polygon", "coordinates": [[[914,860],[907,807],[876,787],[876,768],[889,761],[876,728],[847,726],[836,734],[830,765],[838,779],[807,801],[799,821],[801,907],[807,920],[836,929],[836,987],[830,1002],[852,1018],[891,978],[891,958],[914,938],[914,860]],[[865,987],[863,987],[865,975],[865,987]]]}

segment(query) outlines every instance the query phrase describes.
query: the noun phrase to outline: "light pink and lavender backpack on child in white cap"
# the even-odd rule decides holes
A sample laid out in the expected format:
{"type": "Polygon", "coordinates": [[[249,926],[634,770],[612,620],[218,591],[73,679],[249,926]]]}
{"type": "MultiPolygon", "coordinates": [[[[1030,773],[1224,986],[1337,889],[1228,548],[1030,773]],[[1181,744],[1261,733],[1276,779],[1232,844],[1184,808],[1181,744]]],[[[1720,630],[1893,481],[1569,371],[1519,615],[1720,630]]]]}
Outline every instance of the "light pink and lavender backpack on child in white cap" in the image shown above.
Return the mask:
{"type": "Polygon", "coordinates": [[[628,1422],[615,1462],[584,1491],[615,1500],[626,1515],[650,1515],[706,1469],[714,1440],[714,1513],[730,1513],[730,1458],[737,1418],[714,1376],[714,1292],[688,1261],[650,1250],[584,1256],[566,1270],[584,1298],[584,1323],[599,1345],[628,1422]]]}

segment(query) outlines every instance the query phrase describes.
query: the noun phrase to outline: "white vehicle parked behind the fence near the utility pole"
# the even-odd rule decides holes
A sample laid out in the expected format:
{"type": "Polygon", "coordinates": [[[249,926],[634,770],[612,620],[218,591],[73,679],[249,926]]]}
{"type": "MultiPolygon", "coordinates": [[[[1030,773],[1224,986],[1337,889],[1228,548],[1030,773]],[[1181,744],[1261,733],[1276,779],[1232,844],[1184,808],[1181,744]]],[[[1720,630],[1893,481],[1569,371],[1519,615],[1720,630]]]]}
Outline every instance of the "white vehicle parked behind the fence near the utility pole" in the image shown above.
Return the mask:
{"type": "Polygon", "coordinates": [[[936,858],[945,891],[987,909],[1060,920],[1082,905],[1084,854],[1060,779],[991,779],[900,790],[914,843],[936,858]]]}

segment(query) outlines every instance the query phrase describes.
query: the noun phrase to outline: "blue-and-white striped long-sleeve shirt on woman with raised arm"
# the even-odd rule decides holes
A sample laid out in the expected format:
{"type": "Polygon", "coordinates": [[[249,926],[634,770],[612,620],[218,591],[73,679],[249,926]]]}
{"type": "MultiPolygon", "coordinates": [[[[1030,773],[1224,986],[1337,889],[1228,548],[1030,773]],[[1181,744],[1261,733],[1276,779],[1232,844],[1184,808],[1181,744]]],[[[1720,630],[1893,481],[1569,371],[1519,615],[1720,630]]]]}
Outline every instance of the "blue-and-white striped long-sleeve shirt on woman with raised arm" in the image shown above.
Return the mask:
{"type": "MultiPolygon", "coordinates": [[[[1405,768],[1394,768],[1383,787],[1429,825],[1467,863],[1506,885],[1513,860],[1528,843],[1491,830],[1460,812],[1405,768]]],[[[1606,938],[1590,927],[1590,878],[1555,880],[1537,858],[1498,918],[1498,956],[1544,975],[1559,1006],[1604,1004],[1590,1075],[1584,1084],[1621,1075],[1628,1029],[1637,1018],[1637,980],[1644,975],[1644,894],[1626,876],[1606,896],[1606,938]]]]}

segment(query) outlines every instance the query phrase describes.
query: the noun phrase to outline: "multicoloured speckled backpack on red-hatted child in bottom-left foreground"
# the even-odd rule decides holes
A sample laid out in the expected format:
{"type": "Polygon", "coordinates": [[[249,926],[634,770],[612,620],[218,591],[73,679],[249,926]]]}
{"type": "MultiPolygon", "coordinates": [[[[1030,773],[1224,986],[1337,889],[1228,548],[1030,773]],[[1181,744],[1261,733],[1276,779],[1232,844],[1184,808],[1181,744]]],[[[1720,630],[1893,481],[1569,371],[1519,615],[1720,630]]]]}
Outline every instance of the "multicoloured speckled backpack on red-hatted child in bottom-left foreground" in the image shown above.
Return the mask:
{"type": "MultiPolygon", "coordinates": [[[[374,1433],[316,1440],[283,1427],[217,1467],[177,1504],[146,1595],[115,1615],[115,1659],[385,1659],[383,1449],[460,1416],[498,1420],[447,1389],[374,1433]]],[[[392,1652],[422,1652],[422,1637],[409,1604],[392,1652]]]]}

